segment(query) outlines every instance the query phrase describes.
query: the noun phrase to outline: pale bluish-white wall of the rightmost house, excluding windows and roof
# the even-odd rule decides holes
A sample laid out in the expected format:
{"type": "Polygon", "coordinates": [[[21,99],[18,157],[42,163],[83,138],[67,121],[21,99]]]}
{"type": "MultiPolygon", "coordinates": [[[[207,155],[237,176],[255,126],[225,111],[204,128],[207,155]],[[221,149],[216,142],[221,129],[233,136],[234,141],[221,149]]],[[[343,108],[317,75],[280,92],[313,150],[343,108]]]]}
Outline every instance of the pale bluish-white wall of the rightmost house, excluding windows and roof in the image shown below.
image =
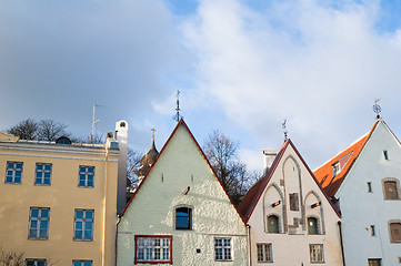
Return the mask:
{"type": "Polygon", "coordinates": [[[401,201],[384,201],[382,180],[401,181],[401,149],[383,122],[379,122],[338,192],[347,265],[368,265],[381,258],[382,266],[399,265],[401,244],[390,243],[389,221],[401,219],[401,201]],[[384,160],[383,151],[390,160],[384,160]],[[372,192],[368,192],[371,182],[372,192]],[[371,236],[370,226],[375,226],[371,236]]]}

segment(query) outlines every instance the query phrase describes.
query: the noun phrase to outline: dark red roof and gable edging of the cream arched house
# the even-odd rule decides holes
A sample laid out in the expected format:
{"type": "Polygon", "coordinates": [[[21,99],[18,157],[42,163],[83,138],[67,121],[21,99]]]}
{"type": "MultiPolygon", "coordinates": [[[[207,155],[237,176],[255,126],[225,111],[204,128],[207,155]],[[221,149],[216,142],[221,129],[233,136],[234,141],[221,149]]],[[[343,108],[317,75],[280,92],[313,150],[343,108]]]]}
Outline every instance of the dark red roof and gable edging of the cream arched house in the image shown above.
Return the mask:
{"type": "MultiPolygon", "coordinates": [[[[277,170],[277,166],[279,165],[287,147],[291,145],[292,149],[294,150],[297,156],[301,160],[302,164],[304,165],[304,167],[308,170],[309,174],[311,175],[311,177],[313,178],[313,181],[315,182],[315,184],[318,185],[318,187],[322,191],[323,195],[327,197],[324,191],[322,190],[322,187],[320,186],[319,182],[317,181],[317,178],[314,177],[312,171],[309,168],[309,166],[307,165],[307,163],[304,162],[303,157],[301,156],[301,154],[298,152],[297,147],[293,145],[293,143],[291,142],[291,140],[287,140],[284,142],[284,144],[281,146],[279,153],[277,154],[274,162],[272,164],[272,166],[270,167],[269,172],[265,174],[264,177],[262,177],[257,184],[254,184],[251,190],[249,190],[249,192],[247,193],[247,195],[244,196],[243,201],[241,202],[240,206],[239,206],[239,211],[241,213],[241,215],[243,216],[242,218],[244,219],[245,223],[248,223],[249,218],[251,217],[254,207],[257,206],[261,195],[263,194],[267,185],[269,184],[271,177],[273,176],[273,173],[277,170]]],[[[328,197],[327,197],[328,200],[328,197]]],[[[333,211],[337,213],[338,216],[340,216],[340,214],[337,212],[337,209],[334,208],[334,206],[332,205],[332,203],[328,200],[328,202],[330,203],[331,207],[333,208],[333,211]]]]}

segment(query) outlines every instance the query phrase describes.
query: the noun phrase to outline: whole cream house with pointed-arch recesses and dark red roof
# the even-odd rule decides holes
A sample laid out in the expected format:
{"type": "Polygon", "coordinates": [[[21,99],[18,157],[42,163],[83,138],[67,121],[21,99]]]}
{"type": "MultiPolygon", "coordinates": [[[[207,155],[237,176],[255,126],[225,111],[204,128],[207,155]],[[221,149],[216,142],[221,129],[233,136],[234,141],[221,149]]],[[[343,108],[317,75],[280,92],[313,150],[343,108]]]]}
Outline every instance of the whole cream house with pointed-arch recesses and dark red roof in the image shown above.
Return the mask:
{"type": "Polygon", "coordinates": [[[251,265],[342,265],[339,214],[290,140],[239,211],[251,265]]]}

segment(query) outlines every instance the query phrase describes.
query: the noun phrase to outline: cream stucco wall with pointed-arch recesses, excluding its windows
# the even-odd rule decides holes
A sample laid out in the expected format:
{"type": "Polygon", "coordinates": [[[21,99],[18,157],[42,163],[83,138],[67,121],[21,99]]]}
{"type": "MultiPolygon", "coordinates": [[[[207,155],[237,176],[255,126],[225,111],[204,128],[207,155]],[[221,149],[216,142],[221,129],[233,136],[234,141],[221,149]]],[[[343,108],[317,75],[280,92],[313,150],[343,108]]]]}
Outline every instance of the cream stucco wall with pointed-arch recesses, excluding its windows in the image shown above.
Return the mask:
{"type": "Polygon", "coordinates": [[[248,222],[251,225],[252,266],[341,265],[338,221],[340,221],[339,216],[324,197],[322,191],[315,184],[293,147],[288,145],[248,222]],[[300,208],[298,212],[290,211],[290,193],[299,194],[300,208]],[[272,207],[271,204],[279,200],[281,204],[272,207]],[[319,201],[322,203],[321,206],[311,208],[311,204],[319,201]],[[281,233],[272,234],[267,232],[267,216],[270,214],[279,215],[281,233]],[[309,216],[319,217],[319,235],[308,235],[305,219],[309,216]],[[299,218],[300,224],[290,234],[291,229],[285,224],[293,225],[293,218],[299,218]],[[272,263],[258,263],[257,243],[272,244],[272,263]],[[324,264],[310,263],[309,244],[323,244],[324,264]]]}

